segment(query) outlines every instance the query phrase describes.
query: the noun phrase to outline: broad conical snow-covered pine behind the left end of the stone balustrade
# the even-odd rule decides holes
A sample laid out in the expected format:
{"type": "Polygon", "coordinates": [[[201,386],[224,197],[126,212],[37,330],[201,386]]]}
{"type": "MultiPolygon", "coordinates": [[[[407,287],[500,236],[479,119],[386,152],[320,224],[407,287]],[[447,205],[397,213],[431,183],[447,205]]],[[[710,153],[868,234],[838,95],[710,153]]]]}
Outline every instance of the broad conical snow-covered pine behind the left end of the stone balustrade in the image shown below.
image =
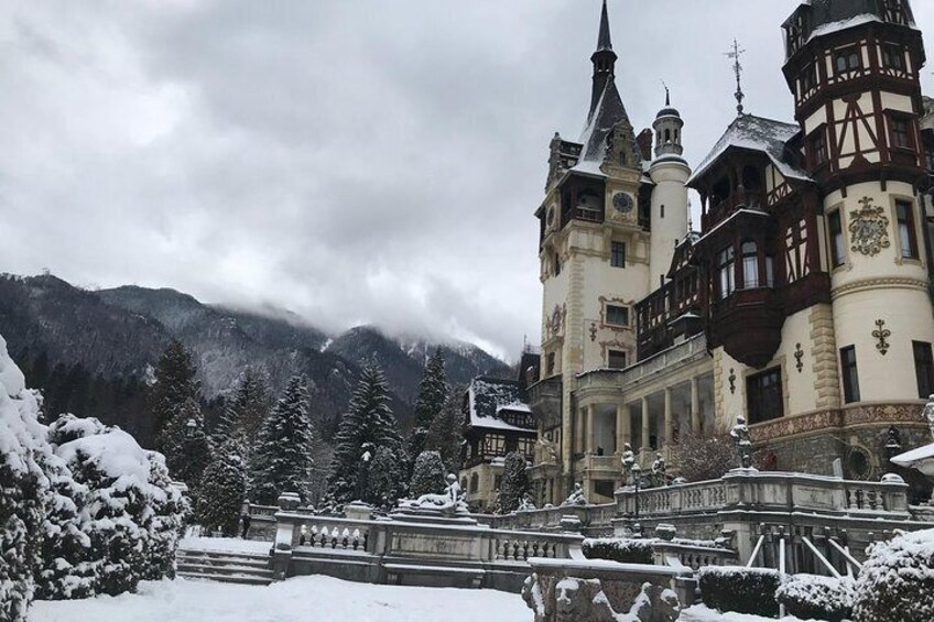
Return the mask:
{"type": "Polygon", "coordinates": [[[308,499],[314,434],[307,382],[304,375],[292,378],[260,428],[250,454],[250,499],[257,503],[273,504],[283,492],[308,499]]]}

